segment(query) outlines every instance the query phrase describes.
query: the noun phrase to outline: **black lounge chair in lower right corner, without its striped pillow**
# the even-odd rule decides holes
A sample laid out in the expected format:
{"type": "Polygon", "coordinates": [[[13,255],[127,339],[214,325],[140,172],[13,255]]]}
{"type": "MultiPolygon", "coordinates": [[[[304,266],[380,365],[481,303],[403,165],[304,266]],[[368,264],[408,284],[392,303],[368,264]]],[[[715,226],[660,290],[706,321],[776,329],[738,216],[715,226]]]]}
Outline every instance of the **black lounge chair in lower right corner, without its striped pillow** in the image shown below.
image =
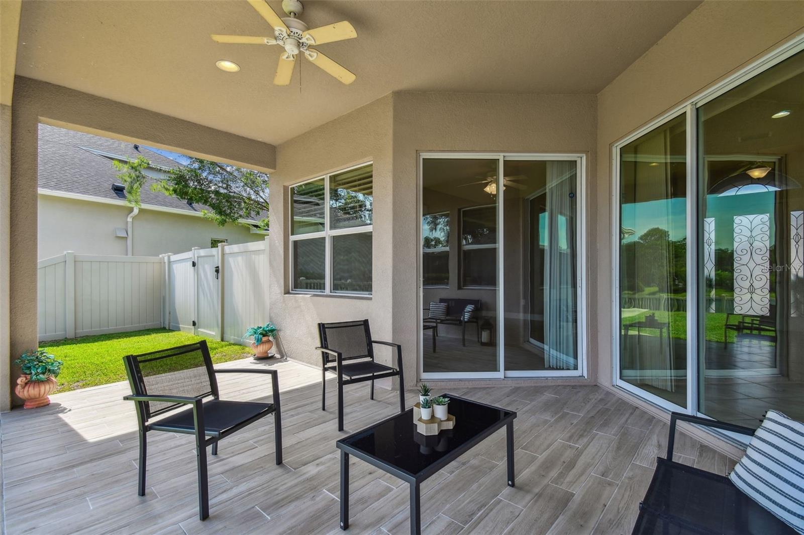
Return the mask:
{"type": "Polygon", "coordinates": [[[645,499],[639,504],[639,517],[632,535],[795,533],[790,526],[736,488],[728,477],[676,463],[673,460],[673,443],[677,420],[741,435],[754,434],[749,427],[672,413],[667,459],[656,459],[656,471],[645,499]]]}

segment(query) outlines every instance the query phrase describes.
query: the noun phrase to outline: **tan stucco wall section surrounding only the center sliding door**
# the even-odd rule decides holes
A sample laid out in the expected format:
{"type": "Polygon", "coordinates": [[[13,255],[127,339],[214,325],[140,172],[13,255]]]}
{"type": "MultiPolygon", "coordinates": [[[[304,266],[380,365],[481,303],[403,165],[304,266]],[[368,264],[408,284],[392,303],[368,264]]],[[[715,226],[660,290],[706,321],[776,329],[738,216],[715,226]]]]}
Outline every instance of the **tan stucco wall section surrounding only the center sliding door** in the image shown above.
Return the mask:
{"type": "MultiPolygon", "coordinates": [[[[503,153],[582,153],[587,156],[586,205],[596,210],[595,96],[485,95],[470,93],[393,94],[393,338],[404,347],[408,370],[418,357],[419,246],[418,153],[427,151],[503,153]]],[[[596,233],[589,227],[588,243],[596,233]]],[[[376,243],[376,240],[375,240],[376,243]]],[[[595,280],[595,265],[587,266],[595,280]]],[[[589,302],[589,330],[597,330],[596,306],[589,302]]],[[[589,351],[590,377],[595,353],[589,351]]],[[[566,382],[583,382],[571,379],[566,382]]]]}

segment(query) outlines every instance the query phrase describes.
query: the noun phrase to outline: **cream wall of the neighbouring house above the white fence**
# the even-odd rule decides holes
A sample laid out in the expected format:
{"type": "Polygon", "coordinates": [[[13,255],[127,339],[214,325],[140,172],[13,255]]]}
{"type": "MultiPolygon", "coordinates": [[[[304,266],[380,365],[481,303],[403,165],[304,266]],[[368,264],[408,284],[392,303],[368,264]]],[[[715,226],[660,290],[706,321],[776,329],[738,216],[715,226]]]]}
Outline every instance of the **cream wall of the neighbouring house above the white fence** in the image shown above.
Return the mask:
{"type": "MultiPolygon", "coordinates": [[[[126,228],[129,206],[104,202],[39,195],[39,259],[74,251],[79,255],[126,255],[125,238],[114,235],[116,227],[126,228]]],[[[228,243],[259,242],[265,235],[242,225],[218,227],[214,222],[192,214],[171,214],[143,207],[132,220],[133,254],[158,256],[164,253],[206,249],[212,238],[228,243]]]]}

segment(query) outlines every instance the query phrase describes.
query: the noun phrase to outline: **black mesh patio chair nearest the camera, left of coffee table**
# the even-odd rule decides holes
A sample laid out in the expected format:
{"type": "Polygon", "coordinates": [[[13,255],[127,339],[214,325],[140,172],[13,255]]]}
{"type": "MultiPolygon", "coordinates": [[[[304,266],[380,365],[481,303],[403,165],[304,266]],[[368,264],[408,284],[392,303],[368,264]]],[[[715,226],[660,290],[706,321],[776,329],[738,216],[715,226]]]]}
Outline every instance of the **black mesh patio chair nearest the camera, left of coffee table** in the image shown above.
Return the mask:
{"type": "Polygon", "coordinates": [[[199,517],[209,517],[207,446],[218,455],[220,439],[273,414],[277,464],[282,464],[282,425],[277,370],[212,368],[206,341],[123,357],[125,374],[137,409],[140,435],[139,487],[146,495],[146,434],[167,431],[195,435],[199,476],[199,517]],[[273,403],[224,401],[218,396],[215,374],[270,374],[273,403]],[[207,398],[207,399],[205,399],[207,398]],[[161,418],[154,419],[155,416],[161,418]]]}

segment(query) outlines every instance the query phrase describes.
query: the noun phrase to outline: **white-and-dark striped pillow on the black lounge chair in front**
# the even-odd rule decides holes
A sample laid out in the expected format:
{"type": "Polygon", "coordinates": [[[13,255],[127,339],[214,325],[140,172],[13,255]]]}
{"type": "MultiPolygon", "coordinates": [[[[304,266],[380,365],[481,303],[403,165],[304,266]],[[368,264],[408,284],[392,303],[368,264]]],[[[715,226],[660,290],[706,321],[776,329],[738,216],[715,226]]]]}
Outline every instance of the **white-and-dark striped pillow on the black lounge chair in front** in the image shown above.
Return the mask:
{"type": "Polygon", "coordinates": [[[804,533],[804,423],[769,410],[728,479],[804,533]]]}

